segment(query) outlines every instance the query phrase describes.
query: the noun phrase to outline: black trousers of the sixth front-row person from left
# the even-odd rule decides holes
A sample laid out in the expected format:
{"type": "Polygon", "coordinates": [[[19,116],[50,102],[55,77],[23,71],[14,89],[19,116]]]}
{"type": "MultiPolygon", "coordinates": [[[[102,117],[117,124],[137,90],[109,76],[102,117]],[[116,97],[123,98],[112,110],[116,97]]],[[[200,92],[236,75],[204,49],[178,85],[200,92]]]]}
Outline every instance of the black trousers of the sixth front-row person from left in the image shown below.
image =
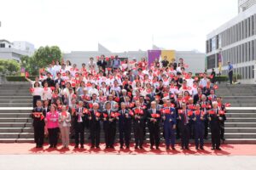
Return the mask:
{"type": "Polygon", "coordinates": [[[105,143],[107,147],[112,147],[114,144],[116,127],[115,124],[109,123],[108,125],[104,126],[104,133],[105,133],[105,143]]]}

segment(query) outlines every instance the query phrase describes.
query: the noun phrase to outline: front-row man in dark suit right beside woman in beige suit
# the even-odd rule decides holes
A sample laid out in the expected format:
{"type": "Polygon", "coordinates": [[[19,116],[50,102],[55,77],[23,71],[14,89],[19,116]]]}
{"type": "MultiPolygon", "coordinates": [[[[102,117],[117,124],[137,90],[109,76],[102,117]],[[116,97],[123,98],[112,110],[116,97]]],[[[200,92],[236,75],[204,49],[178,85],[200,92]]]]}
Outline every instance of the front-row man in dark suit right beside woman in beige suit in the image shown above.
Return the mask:
{"type": "Polygon", "coordinates": [[[79,101],[79,107],[76,109],[74,116],[74,128],[75,128],[75,148],[79,147],[79,143],[81,148],[84,148],[84,124],[85,124],[85,116],[84,116],[84,103],[83,101],[79,101]]]}

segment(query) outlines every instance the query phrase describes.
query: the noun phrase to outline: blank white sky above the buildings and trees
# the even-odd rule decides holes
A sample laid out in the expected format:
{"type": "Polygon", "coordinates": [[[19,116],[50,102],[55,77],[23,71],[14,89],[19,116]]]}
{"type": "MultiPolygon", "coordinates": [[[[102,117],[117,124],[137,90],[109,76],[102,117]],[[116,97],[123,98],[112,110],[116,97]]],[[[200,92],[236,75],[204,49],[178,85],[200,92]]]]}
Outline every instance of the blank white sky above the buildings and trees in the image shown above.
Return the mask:
{"type": "Polygon", "coordinates": [[[237,14],[237,0],[0,0],[0,39],[63,52],[156,46],[205,52],[207,34],[237,14]]]}

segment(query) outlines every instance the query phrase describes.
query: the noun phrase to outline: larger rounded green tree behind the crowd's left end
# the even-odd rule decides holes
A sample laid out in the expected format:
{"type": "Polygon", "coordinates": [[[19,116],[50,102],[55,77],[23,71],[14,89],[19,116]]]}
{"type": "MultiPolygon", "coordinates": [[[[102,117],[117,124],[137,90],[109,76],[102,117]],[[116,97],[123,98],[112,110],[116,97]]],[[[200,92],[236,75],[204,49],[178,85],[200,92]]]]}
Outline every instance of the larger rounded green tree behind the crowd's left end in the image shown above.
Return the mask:
{"type": "Polygon", "coordinates": [[[21,66],[26,68],[32,76],[38,76],[40,68],[47,67],[52,61],[61,60],[61,49],[57,46],[40,47],[32,57],[24,56],[21,58],[21,66]]]}

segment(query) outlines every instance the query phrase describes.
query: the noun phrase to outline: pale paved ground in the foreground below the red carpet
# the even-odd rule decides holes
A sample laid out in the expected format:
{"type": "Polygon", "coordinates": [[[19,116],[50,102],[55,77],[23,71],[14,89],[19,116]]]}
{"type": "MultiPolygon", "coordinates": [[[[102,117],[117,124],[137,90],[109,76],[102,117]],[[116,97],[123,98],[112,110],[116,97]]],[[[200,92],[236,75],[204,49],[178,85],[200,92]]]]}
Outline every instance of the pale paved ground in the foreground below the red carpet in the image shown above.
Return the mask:
{"type": "Polygon", "coordinates": [[[1,170],[254,170],[256,156],[1,155],[1,170]]]}

